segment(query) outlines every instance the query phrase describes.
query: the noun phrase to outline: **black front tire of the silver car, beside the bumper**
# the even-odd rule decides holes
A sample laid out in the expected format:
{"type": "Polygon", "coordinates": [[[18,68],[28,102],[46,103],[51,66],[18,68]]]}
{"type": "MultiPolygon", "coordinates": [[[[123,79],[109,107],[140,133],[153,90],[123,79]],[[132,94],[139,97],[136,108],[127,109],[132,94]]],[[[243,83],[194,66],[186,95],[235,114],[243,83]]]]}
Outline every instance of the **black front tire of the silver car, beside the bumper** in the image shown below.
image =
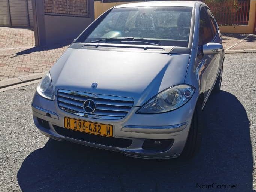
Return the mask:
{"type": "Polygon", "coordinates": [[[201,102],[196,104],[192,122],[189,128],[188,138],[185,147],[180,155],[181,159],[191,159],[200,149],[202,131],[204,127],[201,102]]]}

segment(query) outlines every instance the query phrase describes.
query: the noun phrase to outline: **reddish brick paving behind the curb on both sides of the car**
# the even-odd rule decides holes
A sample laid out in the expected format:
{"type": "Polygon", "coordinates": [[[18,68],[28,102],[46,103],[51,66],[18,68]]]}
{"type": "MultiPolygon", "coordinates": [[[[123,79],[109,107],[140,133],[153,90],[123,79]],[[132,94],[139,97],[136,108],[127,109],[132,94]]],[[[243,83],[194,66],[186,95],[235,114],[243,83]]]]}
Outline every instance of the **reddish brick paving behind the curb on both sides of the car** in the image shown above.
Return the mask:
{"type": "MultiPolygon", "coordinates": [[[[222,34],[224,49],[256,49],[256,36],[222,34]]],[[[27,28],[0,27],[0,81],[48,71],[68,45],[34,47],[34,31],[27,28]]]]}

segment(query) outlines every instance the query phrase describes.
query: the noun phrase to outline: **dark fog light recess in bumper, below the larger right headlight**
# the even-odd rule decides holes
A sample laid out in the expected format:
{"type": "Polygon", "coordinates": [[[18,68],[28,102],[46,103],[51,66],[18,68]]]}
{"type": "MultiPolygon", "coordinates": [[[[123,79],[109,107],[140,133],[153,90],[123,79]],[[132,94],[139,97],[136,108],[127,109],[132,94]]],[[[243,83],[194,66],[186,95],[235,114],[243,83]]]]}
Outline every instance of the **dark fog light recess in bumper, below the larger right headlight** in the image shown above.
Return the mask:
{"type": "Polygon", "coordinates": [[[142,149],[147,150],[167,150],[170,149],[173,145],[174,139],[161,139],[161,140],[154,140],[154,139],[145,139],[142,149]]]}

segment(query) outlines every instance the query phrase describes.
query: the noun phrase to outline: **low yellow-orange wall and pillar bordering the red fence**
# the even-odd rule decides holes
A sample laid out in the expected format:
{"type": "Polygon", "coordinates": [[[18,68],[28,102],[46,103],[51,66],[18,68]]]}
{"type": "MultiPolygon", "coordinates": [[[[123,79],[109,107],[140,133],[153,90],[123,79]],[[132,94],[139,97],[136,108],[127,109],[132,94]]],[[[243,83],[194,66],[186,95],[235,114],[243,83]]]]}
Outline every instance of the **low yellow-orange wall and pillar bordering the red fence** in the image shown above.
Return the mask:
{"type": "Polygon", "coordinates": [[[222,33],[254,33],[256,0],[251,0],[248,25],[219,26],[222,33]]]}

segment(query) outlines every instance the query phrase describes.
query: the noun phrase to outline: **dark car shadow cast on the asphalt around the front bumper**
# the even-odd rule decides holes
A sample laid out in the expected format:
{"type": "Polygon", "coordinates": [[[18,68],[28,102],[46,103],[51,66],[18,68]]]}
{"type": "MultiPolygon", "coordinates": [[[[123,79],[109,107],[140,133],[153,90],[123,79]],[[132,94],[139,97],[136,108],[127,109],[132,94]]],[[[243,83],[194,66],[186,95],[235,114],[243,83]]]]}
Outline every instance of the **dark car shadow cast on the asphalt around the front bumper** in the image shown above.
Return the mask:
{"type": "Polygon", "coordinates": [[[220,91],[209,98],[205,114],[202,148],[190,161],[135,159],[49,140],[24,160],[18,183],[24,192],[252,191],[250,125],[243,105],[220,91]],[[238,188],[200,189],[196,183],[238,188]]]}

